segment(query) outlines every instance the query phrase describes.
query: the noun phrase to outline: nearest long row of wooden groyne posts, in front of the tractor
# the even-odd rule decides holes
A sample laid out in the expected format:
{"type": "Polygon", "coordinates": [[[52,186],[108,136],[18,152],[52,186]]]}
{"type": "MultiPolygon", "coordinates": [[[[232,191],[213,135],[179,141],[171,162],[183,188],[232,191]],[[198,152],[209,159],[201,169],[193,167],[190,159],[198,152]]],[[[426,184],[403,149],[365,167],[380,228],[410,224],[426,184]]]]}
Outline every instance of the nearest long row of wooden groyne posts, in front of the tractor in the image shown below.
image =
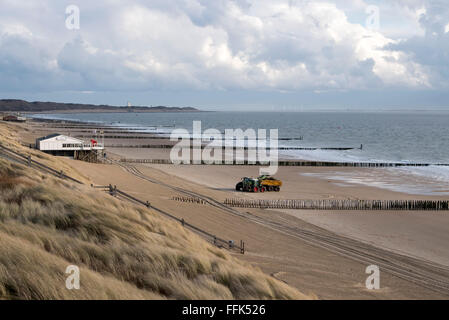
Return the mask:
{"type": "Polygon", "coordinates": [[[449,211],[449,201],[440,200],[248,200],[226,199],[238,208],[302,210],[449,211]]]}

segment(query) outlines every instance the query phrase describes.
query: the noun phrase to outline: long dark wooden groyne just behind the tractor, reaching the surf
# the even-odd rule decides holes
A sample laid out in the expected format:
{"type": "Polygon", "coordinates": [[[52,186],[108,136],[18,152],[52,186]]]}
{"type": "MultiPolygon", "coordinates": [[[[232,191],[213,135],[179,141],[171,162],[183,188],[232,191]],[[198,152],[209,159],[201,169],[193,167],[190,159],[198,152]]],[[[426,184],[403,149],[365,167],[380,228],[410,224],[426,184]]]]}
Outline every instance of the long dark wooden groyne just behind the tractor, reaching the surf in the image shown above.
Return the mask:
{"type": "MultiPolygon", "coordinates": [[[[123,163],[148,163],[148,164],[173,164],[170,159],[120,159],[123,163]]],[[[198,163],[199,165],[200,163],[198,163]]],[[[197,165],[188,163],[188,165],[197,165]]],[[[251,163],[248,160],[237,163],[235,160],[232,163],[208,163],[201,161],[201,165],[230,165],[230,166],[266,166],[268,163],[257,161],[251,163]]],[[[429,166],[444,166],[449,164],[444,163],[395,163],[395,162],[326,162],[326,161],[278,161],[280,167],[355,167],[355,168],[386,168],[386,167],[429,167],[429,166]]]]}

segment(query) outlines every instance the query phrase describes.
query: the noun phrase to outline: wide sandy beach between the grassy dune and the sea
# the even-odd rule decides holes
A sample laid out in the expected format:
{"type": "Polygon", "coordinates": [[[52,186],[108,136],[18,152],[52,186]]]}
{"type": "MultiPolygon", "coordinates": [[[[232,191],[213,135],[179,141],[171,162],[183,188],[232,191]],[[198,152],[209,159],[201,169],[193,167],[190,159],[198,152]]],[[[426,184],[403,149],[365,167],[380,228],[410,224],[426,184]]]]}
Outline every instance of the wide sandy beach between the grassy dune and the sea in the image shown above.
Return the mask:
{"type": "MultiPolygon", "coordinates": [[[[76,136],[80,129],[52,127],[52,123],[30,122],[23,125],[24,143],[47,133],[59,132],[76,136]]],[[[133,133],[134,135],[135,133],[133,133]]],[[[126,133],[124,133],[126,135],[126,133]]],[[[139,143],[158,144],[156,139],[139,143]]],[[[166,139],[164,140],[167,141],[166,139]]],[[[105,139],[105,144],[136,143],[132,139],[105,139]]],[[[108,158],[161,159],[164,149],[107,148],[108,158]]],[[[265,273],[281,279],[323,299],[422,299],[447,298],[442,292],[415,283],[399,273],[382,272],[381,290],[365,288],[364,259],[345,254],[338,239],[348,246],[376,252],[375,257],[390,257],[405,265],[419,265],[422,270],[449,270],[449,214],[433,212],[358,212],[239,209],[233,214],[211,205],[182,203],[171,200],[189,190],[217,201],[226,198],[253,199],[422,199],[443,200],[444,195],[415,195],[376,186],[342,183],[326,179],[336,171],[388,176],[386,169],[280,167],[276,178],[283,181],[279,193],[241,193],[235,184],[244,176],[257,176],[255,166],[205,166],[157,164],[91,164],[64,158],[68,164],[88,176],[97,185],[113,184],[135,197],[148,200],[164,210],[220,237],[244,240],[245,255],[236,256],[258,266],[265,273]],[[127,170],[132,166],[141,176],[127,170]],[[321,176],[317,177],[317,175],[321,176]],[[146,177],[147,179],[142,178],[146,177]],[[181,190],[181,191],[180,191],[181,190]],[[332,246],[295,235],[307,231],[335,240],[332,246]],[[340,249],[339,249],[340,248],[340,249]],[[376,249],[373,249],[376,248],[376,249]],[[379,250],[379,251],[377,251],[379,250]],[[427,270],[427,269],[426,269],[427,270]],[[430,270],[430,269],[429,269],[430,270]]],[[[389,169],[390,170],[390,169],[389,169]]],[[[409,179],[403,175],[404,181],[409,179]]],[[[339,240],[339,241],[340,241],[339,240]]],[[[426,272],[432,273],[433,271],[426,272]]]]}

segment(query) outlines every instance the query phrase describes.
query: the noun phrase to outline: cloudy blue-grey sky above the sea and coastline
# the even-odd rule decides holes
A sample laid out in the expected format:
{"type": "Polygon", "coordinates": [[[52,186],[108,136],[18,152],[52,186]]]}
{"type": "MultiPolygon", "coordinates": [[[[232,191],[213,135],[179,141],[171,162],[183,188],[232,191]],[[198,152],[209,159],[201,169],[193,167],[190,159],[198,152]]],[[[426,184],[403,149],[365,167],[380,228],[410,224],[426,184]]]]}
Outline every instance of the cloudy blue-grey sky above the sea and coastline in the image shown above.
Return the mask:
{"type": "Polygon", "coordinates": [[[443,0],[0,0],[0,98],[449,109],[443,0]]]}

